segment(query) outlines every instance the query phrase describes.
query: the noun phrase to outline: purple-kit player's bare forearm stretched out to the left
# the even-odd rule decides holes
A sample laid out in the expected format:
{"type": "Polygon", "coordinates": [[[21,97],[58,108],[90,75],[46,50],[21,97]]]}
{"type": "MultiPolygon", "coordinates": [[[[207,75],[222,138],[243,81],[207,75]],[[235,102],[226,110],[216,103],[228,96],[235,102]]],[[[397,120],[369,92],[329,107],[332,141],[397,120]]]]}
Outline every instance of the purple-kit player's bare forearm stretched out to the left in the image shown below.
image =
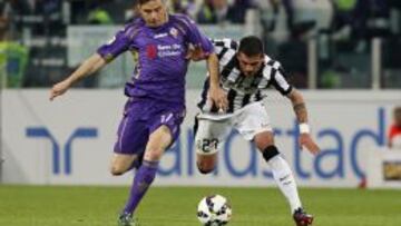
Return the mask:
{"type": "Polygon", "coordinates": [[[95,53],[84,61],[79,68],[74,71],[68,78],[56,83],[50,90],[50,100],[53,100],[56,97],[63,95],[75,82],[82,79],[86,76],[89,76],[106,65],[106,60],[100,57],[100,55],[95,53]]]}

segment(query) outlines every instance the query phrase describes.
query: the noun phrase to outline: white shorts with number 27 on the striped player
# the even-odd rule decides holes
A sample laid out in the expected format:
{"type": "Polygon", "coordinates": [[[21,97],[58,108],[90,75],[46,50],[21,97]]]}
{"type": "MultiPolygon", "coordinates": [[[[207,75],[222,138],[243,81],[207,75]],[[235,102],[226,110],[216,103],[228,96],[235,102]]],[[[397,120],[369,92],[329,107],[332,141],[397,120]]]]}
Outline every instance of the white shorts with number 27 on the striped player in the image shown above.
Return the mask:
{"type": "Polygon", "coordinates": [[[196,153],[202,155],[217,153],[232,129],[237,130],[246,140],[252,140],[262,131],[272,131],[270,117],[261,101],[250,104],[234,114],[199,114],[195,120],[196,153]]]}

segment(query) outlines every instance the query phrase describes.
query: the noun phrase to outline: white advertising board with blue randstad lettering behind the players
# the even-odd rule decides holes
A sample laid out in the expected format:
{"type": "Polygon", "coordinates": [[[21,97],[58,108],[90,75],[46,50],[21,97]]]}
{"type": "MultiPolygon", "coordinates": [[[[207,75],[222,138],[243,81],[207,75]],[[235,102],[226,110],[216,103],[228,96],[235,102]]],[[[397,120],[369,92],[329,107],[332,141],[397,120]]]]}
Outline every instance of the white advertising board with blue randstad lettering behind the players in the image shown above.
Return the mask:
{"type": "MultiPolygon", "coordinates": [[[[258,150],[232,131],[211,175],[196,167],[193,122],[200,90],[187,91],[187,116],[178,140],[163,157],[156,185],[268,186],[272,174],[258,150]]],[[[381,151],[397,91],[303,91],[311,135],[322,153],[312,156],[297,145],[291,102],[268,94],[266,110],[275,144],[301,186],[354,187],[372,167],[371,149],[381,151]]],[[[128,185],[131,174],[113,177],[109,161],[126,98],[120,90],[70,90],[56,101],[48,90],[4,90],[2,165],[6,184],[128,185]],[[90,163],[90,166],[88,165],[90,163]]],[[[393,167],[394,168],[394,167],[393,167]]]]}

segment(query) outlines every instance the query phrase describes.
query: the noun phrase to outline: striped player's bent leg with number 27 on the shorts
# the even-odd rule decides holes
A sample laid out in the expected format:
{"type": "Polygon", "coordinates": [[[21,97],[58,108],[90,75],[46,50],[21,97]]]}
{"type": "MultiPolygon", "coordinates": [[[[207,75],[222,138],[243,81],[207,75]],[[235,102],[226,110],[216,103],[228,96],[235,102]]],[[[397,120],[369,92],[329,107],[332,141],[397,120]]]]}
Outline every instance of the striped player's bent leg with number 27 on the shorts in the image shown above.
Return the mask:
{"type": "Polygon", "coordinates": [[[217,151],[223,145],[227,130],[228,119],[211,120],[202,116],[195,117],[196,165],[202,174],[208,174],[215,169],[217,151]]]}

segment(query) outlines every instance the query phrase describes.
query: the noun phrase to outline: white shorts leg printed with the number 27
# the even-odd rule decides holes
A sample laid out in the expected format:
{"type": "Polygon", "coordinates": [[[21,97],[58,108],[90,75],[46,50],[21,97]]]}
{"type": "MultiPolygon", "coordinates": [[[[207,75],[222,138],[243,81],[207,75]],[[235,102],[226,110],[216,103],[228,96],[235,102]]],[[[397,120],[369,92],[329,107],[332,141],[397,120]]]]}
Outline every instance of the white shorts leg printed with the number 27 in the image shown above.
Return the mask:
{"type": "Polygon", "coordinates": [[[216,154],[223,147],[224,138],[231,130],[231,119],[212,120],[195,118],[195,147],[197,156],[216,154]]]}

